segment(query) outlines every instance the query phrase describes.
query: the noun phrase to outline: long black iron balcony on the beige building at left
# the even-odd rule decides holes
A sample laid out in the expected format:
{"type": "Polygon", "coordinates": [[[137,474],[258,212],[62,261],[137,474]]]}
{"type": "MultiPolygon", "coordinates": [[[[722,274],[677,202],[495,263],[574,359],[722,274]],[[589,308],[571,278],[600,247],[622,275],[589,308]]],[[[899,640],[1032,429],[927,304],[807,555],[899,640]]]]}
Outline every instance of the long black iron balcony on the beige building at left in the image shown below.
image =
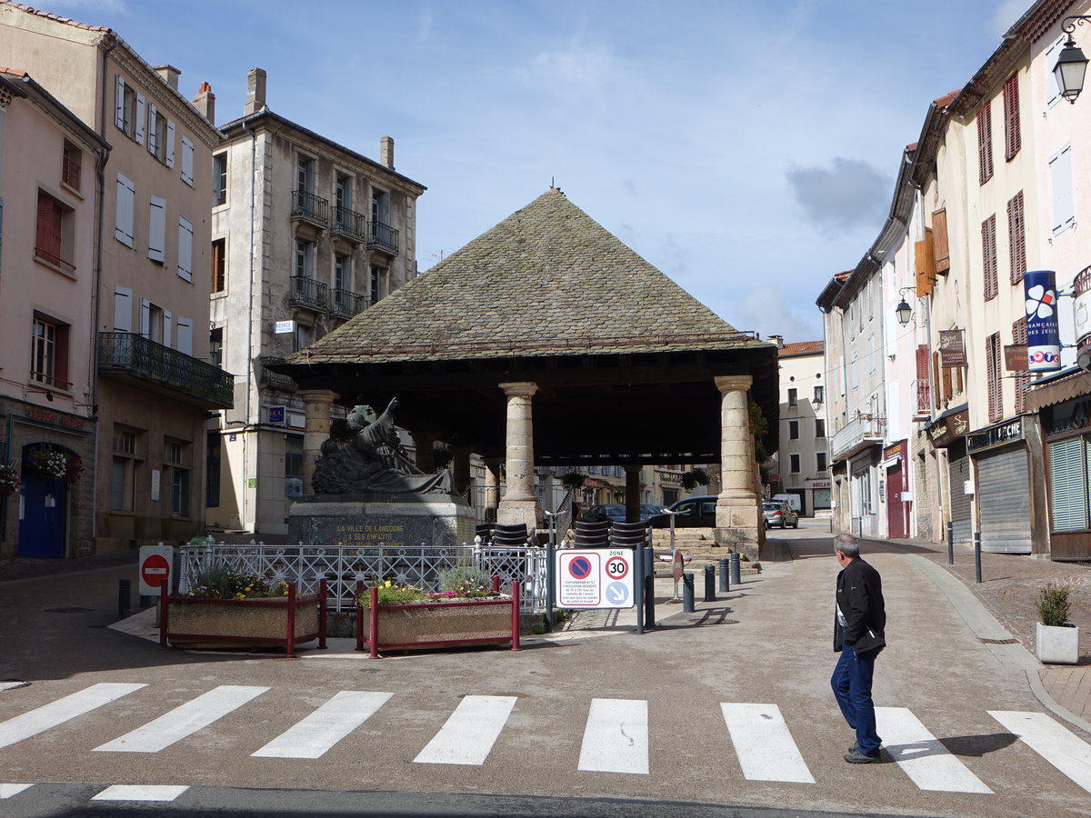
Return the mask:
{"type": "Polygon", "coordinates": [[[98,334],[98,373],[203,409],[235,405],[235,375],[135,333],[98,334]]]}

